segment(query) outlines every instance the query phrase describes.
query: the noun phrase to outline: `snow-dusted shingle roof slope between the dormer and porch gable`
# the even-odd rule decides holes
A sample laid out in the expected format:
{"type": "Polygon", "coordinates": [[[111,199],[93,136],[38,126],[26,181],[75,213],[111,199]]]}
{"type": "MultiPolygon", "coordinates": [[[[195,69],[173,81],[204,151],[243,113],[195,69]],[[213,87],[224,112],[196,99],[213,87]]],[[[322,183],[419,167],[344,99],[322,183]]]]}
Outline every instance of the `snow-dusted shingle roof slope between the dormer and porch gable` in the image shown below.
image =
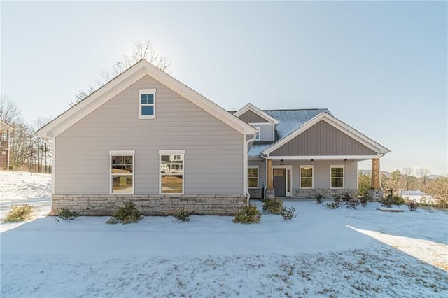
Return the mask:
{"type": "MultiPolygon", "coordinates": [[[[271,115],[276,120],[279,120],[280,123],[276,125],[276,141],[283,139],[285,136],[288,136],[291,132],[294,132],[297,128],[301,127],[304,123],[308,122],[312,118],[316,117],[316,115],[327,112],[331,115],[330,111],[326,108],[310,108],[310,109],[299,109],[299,110],[262,110],[263,112],[271,115]]],[[[255,142],[249,150],[248,155],[250,157],[255,157],[260,155],[260,153],[271,146],[273,143],[258,143],[255,142]]]]}

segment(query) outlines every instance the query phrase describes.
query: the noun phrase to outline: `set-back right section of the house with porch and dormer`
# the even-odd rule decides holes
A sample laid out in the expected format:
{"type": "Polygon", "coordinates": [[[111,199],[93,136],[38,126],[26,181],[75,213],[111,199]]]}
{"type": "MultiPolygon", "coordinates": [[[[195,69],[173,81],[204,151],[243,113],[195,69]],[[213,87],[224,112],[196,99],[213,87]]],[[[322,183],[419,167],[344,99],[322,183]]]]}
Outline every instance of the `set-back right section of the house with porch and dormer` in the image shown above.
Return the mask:
{"type": "Polygon", "coordinates": [[[314,198],[358,195],[358,162],[372,159],[379,190],[384,146],[335,118],[327,109],[266,110],[247,104],[234,113],[259,130],[248,152],[251,197],[314,198]]]}

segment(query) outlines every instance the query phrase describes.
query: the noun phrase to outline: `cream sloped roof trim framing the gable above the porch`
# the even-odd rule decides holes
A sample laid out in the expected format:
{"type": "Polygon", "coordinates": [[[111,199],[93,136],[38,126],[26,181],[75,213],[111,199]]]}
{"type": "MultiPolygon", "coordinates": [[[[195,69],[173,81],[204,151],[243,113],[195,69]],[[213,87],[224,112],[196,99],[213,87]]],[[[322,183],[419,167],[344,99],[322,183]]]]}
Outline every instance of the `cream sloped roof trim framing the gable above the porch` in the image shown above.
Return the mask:
{"type": "Polygon", "coordinates": [[[346,125],[346,123],[342,122],[341,120],[335,118],[333,115],[328,113],[327,111],[323,111],[316,115],[314,118],[308,120],[307,122],[304,122],[300,127],[295,129],[293,132],[290,132],[288,135],[282,137],[279,141],[276,143],[273,143],[271,146],[268,146],[264,150],[262,150],[262,153],[269,155],[274,150],[280,148],[284,144],[288,143],[292,139],[294,139],[299,134],[302,134],[305,130],[309,129],[313,125],[315,125],[319,121],[325,121],[328,124],[332,125],[336,129],[339,129],[340,131],[344,132],[351,138],[355,139],[356,141],[362,143],[367,148],[372,149],[374,152],[377,152],[378,154],[386,154],[388,152],[391,152],[391,150],[388,150],[388,148],[381,146],[379,143],[373,141],[369,137],[365,136],[364,134],[361,134],[353,127],[350,127],[349,125],[346,125]]]}

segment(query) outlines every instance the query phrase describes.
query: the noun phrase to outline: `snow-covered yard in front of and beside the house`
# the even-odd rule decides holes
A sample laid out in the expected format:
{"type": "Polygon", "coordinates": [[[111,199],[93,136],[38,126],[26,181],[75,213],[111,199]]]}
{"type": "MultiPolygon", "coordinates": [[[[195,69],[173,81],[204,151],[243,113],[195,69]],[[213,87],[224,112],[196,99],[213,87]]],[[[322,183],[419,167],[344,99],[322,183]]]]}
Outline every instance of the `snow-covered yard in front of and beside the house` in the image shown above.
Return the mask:
{"type": "Polygon", "coordinates": [[[1,297],[447,297],[448,215],[330,210],[286,202],[298,216],[228,216],[190,222],[147,216],[71,222],[50,211],[50,177],[0,171],[1,216],[40,208],[22,225],[0,224],[1,297]]]}

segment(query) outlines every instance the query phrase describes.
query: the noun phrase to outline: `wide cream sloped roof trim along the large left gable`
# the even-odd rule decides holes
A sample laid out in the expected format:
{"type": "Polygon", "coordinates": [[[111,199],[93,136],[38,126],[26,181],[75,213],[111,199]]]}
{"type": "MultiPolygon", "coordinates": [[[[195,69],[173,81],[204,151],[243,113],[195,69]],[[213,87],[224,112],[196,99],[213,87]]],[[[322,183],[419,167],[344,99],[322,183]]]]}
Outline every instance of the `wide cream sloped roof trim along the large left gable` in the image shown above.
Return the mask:
{"type": "Polygon", "coordinates": [[[228,111],[225,111],[225,109],[221,108],[221,106],[218,106],[213,101],[197,93],[187,85],[179,82],[179,80],[169,76],[168,73],[158,69],[145,59],[141,59],[119,76],[113,78],[113,80],[109,83],[106,83],[106,85],[102,86],[97,91],[78,102],[78,104],[72,106],[64,113],[57,116],[57,118],[49,122],[47,125],[41,127],[41,129],[37,131],[38,136],[52,138],[58,134],[61,134],[86,115],[94,111],[96,108],[99,108],[99,106],[102,106],[107,101],[146,75],[158,80],[160,83],[191,101],[196,106],[199,106],[204,111],[214,115],[219,120],[237,130],[237,132],[240,132],[241,134],[255,134],[255,128],[251,125],[248,125],[235,115],[228,113],[228,111]]]}

